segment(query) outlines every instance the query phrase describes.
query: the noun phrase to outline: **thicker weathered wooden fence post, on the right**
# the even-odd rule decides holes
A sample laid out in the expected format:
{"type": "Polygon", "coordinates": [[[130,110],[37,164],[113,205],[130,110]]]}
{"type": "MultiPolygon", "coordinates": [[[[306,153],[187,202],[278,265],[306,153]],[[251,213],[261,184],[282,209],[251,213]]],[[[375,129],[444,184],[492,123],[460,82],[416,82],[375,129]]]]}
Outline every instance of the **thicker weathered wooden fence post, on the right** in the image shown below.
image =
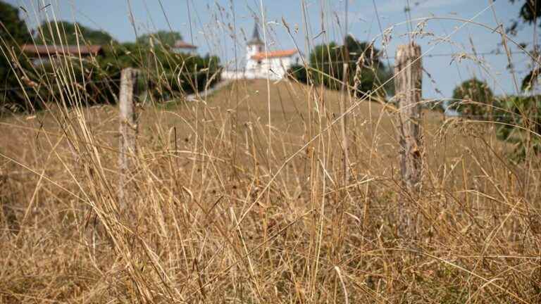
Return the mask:
{"type": "Polygon", "coordinates": [[[412,238],[416,234],[417,224],[413,201],[418,199],[421,189],[421,46],[412,42],[398,47],[394,75],[399,107],[400,172],[407,191],[399,198],[398,232],[401,236],[412,238]]]}

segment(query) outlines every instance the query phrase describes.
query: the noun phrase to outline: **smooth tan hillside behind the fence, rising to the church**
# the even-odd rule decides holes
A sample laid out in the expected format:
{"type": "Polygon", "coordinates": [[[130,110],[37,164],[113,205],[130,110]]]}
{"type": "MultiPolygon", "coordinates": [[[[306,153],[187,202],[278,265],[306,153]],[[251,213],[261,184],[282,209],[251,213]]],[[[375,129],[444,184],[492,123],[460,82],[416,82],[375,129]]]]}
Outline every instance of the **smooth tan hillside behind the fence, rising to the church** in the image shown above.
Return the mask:
{"type": "MultiPolygon", "coordinates": [[[[154,148],[156,145],[168,149],[176,147],[183,151],[192,151],[200,146],[209,155],[220,155],[224,162],[226,159],[235,162],[232,158],[238,156],[240,163],[235,165],[245,167],[254,156],[258,160],[266,158],[270,143],[272,166],[279,166],[309,140],[319,138],[322,140],[319,148],[327,149],[330,153],[327,158],[332,160],[335,156],[340,157],[337,154],[341,153],[340,141],[337,140],[340,134],[337,121],[339,102],[338,91],[309,88],[293,82],[270,82],[268,91],[265,80],[233,82],[208,99],[195,103],[173,101],[153,106],[145,100],[140,111],[139,146],[143,151],[149,145],[154,148]],[[236,148],[232,149],[232,146],[236,148]],[[224,150],[223,147],[227,148],[224,150]]],[[[389,174],[392,168],[396,170],[395,108],[378,101],[348,99],[347,102],[349,106],[355,106],[347,116],[352,167],[371,174],[389,174]]],[[[64,131],[57,121],[61,112],[56,109],[30,118],[15,116],[4,119],[1,124],[6,132],[0,136],[7,143],[6,153],[19,156],[21,161],[30,164],[39,158],[51,158],[51,146],[60,140],[58,147],[62,148],[62,153],[59,155],[69,156],[67,141],[61,139],[64,131]]],[[[111,158],[116,157],[118,111],[115,106],[72,109],[65,115],[66,121],[81,118],[103,152],[111,158]]],[[[476,139],[479,132],[497,153],[504,152],[505,144],[491,136],[493,132],[486,124],[464,124],[453,118],[445,120],[441,113],[429,110],[423,113],[423,137],[430,169],[435,170],[454,158],[471,160],[467,148],[480,144],[476,139]]],[[[314,141],[313,146],[317,146],[316,143],[314,141]]],[[[189,159],[192,157],[189,154],[181,153],[179,158],[189,159]]]]}

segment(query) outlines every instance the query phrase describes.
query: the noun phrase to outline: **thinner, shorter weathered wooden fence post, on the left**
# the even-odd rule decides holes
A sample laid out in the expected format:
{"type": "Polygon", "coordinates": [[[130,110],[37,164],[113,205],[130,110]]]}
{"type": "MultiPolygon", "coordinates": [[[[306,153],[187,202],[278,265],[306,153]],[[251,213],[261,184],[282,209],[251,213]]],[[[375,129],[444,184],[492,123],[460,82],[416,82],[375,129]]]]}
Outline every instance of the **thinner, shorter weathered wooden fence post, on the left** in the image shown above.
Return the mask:
{"type": "Polygon", "coordinates": [[[137,70],[125,68],[120,73],[120,155],[118,167],[120,169],[120,180],[118,184],[118,207],[123,211],[128,204],[127,184],[132,157],[136,151],[137,137],[137,109],[135,108],[134,96],[137,95],[137,70]]]}

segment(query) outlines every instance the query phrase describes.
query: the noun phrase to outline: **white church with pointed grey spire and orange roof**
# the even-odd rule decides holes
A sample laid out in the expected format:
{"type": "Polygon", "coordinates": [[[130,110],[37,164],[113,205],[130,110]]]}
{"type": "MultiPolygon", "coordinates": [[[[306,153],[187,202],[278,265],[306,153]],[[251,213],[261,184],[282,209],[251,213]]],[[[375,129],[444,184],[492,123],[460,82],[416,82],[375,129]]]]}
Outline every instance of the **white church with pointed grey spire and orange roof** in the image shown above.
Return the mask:
{"type": "Polygon", "coordinates": [[[291,65],[298,63],[296,49],[265,51],[265,44],[259,36],[257,23],[254,33],[246,46],[246,68],[244,70],[224,70],[223,79],[266,79],[280,80],[285,77],[291,65]]]}

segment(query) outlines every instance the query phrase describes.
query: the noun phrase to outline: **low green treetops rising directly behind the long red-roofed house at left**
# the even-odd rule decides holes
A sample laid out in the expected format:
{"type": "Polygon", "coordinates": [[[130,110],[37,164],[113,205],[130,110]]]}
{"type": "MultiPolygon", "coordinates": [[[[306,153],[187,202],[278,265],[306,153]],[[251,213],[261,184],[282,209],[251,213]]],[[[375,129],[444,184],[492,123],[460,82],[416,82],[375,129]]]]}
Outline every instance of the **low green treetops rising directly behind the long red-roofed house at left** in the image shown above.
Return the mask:
{"type": "Polygon", "coordinates": [[[42,23],[39,26],[39,33],[35,37],[36,42],[43,42],[44,44],[60,44],[60,42],[63,42],[63,44],[77,44],[78,41],[79,44],[104,45],[115,42],[115,39],[108,32],[94,30],[90,27],[68,21],[42,23]],[[61,37],[58,37],[57,29],[61,33],[61,37]]]}

